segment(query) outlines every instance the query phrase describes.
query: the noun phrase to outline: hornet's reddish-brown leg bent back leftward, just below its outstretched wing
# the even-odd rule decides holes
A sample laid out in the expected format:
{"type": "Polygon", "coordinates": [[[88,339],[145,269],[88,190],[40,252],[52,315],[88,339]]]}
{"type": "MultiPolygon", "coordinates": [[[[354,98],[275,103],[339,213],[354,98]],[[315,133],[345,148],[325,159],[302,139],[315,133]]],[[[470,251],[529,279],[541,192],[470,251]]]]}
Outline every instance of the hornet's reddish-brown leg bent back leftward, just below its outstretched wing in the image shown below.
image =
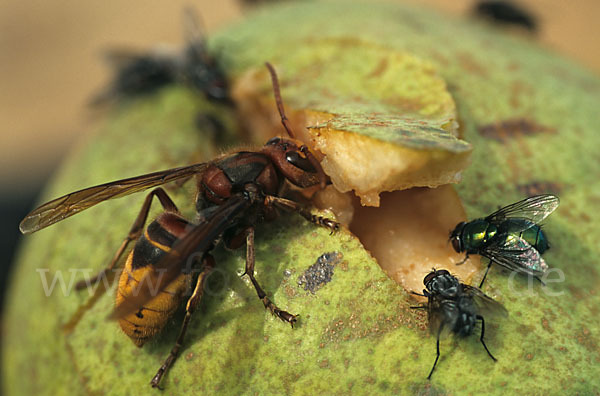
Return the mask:
{"type": "Polygon", "coordinates": [[[142,209],[140,209],[140,213],[138,214],[137,218],[133,222],[133,225],[131,226],[131,229],[129,230],[129,234],[123,240],[123,243],[121,243],[121,246],[119,247],[119,249],[113,256],[113,258],[110,261],[110,263],[108,264],[108,266],[105,269],[103,269],[102,271],[100,271],[96,276],[94,276],[90,280],[82,280],[82,281],[77,282],[77,284],[75,285],[75,290],[85,289],[88,285],[94,284],[94,283],[98,282],[100,279],[102,279],[103,277],[107,276],[109,271],[111,271],[114,268],[114,266],[117,264],[117,262],[123,255],[123,252],[125,252],[129,243],[131,243],[131,241],[135,241],[136,239],[138,239],[140,237],[140,235],[142,235],[142,231],[144,230],[144,225],[146,224],[146,219],[148,218],[148,212],[150,211],[150,206],[152,204],[152,198],[154,196],[156,196],[158,198],[158,200],[160,201],[160,204],[162,205],[162,207],[164,208],[165,211],[179,213],[179,209],[177,209],[177,206],[175,206],[175,203],[167,195],[165,190],[163,190],[160,187],[152,190],[150,192],[150,194],[148,194],[146,196],[146,200],[144,201],[144,204],[142,205],[142,209]]]}

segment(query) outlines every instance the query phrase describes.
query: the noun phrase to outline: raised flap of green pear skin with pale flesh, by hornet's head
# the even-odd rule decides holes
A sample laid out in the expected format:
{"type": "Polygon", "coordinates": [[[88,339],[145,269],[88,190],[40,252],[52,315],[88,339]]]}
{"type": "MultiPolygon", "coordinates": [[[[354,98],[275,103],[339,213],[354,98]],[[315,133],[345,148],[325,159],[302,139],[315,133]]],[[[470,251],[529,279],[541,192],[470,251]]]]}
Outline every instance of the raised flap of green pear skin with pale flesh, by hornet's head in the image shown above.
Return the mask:
{"type": "MultiPolygon", "coordinates": [[[[472,148],[457,138],[454,101],[429,62],[369,41],[331,38],[307,39],[272,61],[290,118],[324,155],[323,169],[339,191],[378,206],[382,191],[460,180],[472,148]]],[[[255,118],[257,107],[275,110],[263,69],[249,69],[234,86],[244,119],[255,118]],[[245,104],[257,100],[257,91],[259,103],[245,104]]]]}

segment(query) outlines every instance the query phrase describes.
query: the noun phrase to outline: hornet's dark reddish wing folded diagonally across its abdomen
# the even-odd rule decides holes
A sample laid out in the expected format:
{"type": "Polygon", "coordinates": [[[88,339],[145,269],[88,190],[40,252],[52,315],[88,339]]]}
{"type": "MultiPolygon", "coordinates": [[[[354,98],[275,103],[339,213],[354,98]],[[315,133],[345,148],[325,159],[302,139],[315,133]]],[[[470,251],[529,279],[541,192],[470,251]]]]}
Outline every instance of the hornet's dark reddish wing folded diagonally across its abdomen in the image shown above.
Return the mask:
{"type": "Polygon", "coordinates": [[[120,319],[138,311],[179,275],[191,271],[191,265],[195,262],[194,255],[202,258],[250,204],[250,201],[241,195],[233,196],[220,205],[207,221],[192,227],[173,245],[169,253],[140,279],[136,294],[115,307],[110,318],[120,319]]]}

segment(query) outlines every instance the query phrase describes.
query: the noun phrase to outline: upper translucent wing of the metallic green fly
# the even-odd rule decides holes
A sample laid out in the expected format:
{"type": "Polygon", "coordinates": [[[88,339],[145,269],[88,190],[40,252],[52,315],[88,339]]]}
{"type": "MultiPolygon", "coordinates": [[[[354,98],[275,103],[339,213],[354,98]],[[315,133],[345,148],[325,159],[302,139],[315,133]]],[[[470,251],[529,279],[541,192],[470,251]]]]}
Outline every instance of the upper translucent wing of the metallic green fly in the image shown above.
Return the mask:
{"type": "MultiPolygon", "coordinates": [[[[510,218],[517,218],[529,220],[532,224],[539,224],[548,217],[550,213],[554,212],[559,203],[560,201],[556,195],[535,195],[498,209],[496,212],[486,217],[485,220],[490,223],[498,224],[510,218]]],[[[527,222],[523,222],[523,224],[525,229],[532,225],[527,222]]],[[[523,230],[512,231],[518,232],[523,230]]]]}

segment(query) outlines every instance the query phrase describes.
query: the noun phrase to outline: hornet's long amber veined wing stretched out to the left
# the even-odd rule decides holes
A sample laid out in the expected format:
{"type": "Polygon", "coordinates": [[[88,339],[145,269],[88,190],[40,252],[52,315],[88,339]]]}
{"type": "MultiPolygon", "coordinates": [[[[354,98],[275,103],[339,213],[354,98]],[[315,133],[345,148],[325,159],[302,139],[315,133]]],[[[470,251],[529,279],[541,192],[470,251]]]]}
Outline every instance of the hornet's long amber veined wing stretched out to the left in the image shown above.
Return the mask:
{"type": "Polygon", "coordinates": [[[151,187],[190,177],[202,172],[205,168],[205,163],[195,164],[117,180],[76,191],[34,209],[21,221],[19,229],[23,234],[30,234],[73,216],[100,202],[121,198],[151,187]]]}

